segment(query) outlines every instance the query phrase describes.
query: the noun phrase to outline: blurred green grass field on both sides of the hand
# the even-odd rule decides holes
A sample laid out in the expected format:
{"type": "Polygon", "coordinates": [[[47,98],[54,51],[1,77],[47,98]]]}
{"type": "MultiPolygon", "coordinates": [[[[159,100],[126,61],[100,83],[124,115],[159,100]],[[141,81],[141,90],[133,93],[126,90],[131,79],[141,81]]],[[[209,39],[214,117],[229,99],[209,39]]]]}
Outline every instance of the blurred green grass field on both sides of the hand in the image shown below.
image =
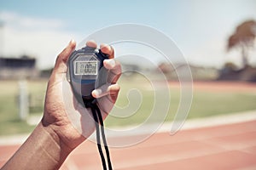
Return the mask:
{"type": "MultiPolygon", "coordinates": [[[[47,81],[28,81],[27,84],[31,99],[30,115],[42,116],[47,81]]],[[[154,89],[152,85],[143,77],[132,77],[132,81],[128,78],[121,78],[119,84],[121,90],[116,105],[123,109],[114,109],[111,113],[114,116],[108,117],[106,125],[127,126],[144,122],[154,109],[154,89]],[[129,110],[124,109],[125,107],[129,107],[129,110]]],[[[0,91],[0,135],[32,132],[34,126],[29,126],[26,122],[20,121],[18,116],[18,82],[1,81],[0,88],[2,89],[0,91]]],[[[176,114],[180,99],[179,90],[177,87],[170,88],[171,103],[165,120],[167,122],[172,121],[176,114]]],[[[229,90],[218,92],[211,89],[199,89],[194,91],[188,118],[256,110],[255,103],[255,91],[253,93],[229,90]]],[[[169,104],[160,101],[160,108],[166,105],[169,104]]],[[[163,113],[165,111],[158,110],[158,112],[157,114],[165,114],[163,113]]],[[[149,122],[159,121],[162,122],[162,118],[154,116],[154,118],[150,117],[149,122]]]]}

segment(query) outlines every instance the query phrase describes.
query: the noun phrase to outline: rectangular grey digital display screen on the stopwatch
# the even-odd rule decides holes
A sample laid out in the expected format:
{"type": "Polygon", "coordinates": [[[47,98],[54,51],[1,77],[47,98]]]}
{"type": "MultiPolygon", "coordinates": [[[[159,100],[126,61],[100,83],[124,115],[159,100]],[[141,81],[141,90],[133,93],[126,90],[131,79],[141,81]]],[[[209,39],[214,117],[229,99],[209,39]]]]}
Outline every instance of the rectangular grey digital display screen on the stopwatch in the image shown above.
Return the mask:
{"type": "Polygon", "coordinates": [[[96,76],[97,71],[97,61],[75,61],[74,63],[74,74],[76,76],[96,76]]]}

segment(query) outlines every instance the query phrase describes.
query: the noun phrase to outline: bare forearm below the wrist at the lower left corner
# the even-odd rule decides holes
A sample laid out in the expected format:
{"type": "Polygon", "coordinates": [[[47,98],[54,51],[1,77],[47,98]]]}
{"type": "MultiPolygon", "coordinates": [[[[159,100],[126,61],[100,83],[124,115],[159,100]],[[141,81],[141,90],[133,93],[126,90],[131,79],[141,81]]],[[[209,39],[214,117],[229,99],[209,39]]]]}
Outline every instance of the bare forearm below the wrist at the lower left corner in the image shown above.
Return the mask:
{"type": "Polygon", "coordinates": [[[71,151],[50,127],[40,122],[2,170],[58,169],[71,151]]]}

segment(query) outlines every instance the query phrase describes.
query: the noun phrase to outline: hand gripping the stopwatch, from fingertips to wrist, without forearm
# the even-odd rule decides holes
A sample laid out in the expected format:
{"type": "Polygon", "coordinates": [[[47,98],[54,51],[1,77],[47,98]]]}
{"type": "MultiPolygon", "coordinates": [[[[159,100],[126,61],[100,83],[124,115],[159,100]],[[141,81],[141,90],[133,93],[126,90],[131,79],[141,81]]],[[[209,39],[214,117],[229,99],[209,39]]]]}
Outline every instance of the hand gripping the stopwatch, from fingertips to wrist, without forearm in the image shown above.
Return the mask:
{"type": "MultiPolygon", "coordinates": [[[[43,125],[51,127],[63,144],[70,148],[75,148],[95,130],[91,111],[79,104],[67,82],[67,60],[75,46],[74,41],[69,42],[55,61],[55,68],[49,78],[42,120],[43,125]]],[[[96,48],[96,42],[86,42],[86,46],[96,48]]],[[[102,44],[101,50],[109,55],[109,59],[103,62],[104,67],[108,69],[108,84],[94,90],[92,95],[98,100],[102,118],[105,119],[119,94],[119,85],[116,82],[121,73],[121,66],[113,60],[113,48],[102,44]]]]}

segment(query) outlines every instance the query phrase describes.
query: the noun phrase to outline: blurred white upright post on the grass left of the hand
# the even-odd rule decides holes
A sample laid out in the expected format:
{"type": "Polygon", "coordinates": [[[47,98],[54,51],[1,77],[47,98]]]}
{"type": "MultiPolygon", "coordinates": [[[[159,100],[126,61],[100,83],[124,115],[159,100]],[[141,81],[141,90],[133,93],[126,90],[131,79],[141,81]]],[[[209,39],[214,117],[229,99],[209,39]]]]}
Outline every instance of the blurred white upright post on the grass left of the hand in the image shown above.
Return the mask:
{"type": "Polygon", "coordinates": [[[19,81],[19,117],[20,120],[26,120],[28,115],[28,94],[26,80],[19,81]]]}

